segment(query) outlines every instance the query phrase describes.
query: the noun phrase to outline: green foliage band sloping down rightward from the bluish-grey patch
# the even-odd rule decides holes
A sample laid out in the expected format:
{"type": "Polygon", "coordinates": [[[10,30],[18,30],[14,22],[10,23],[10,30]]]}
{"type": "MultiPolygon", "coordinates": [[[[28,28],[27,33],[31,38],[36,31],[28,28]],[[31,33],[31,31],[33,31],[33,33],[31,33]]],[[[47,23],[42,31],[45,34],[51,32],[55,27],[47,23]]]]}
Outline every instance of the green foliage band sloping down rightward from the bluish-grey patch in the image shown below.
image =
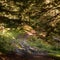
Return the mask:
{"type": "Polygon", "coordinates": [[[27,42],[30,46],[35,47],[40,51],[47,51],[49,55],[60,57],[59,46],[51,45],[48,42],[36,37],[31,37],[27,42]]]}

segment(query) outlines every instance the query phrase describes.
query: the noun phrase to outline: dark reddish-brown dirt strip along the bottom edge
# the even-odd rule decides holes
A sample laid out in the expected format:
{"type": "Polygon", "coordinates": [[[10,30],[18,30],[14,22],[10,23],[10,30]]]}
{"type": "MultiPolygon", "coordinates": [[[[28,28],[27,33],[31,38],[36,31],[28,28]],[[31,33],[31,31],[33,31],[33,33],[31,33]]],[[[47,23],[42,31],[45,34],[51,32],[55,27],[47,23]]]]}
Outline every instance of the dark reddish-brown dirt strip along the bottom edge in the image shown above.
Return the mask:
{"type": "Polygon", "coordinates": [[[0,60],[55,60],[48,56],[18,55],[18,54],[0,54],[0,60]]]}

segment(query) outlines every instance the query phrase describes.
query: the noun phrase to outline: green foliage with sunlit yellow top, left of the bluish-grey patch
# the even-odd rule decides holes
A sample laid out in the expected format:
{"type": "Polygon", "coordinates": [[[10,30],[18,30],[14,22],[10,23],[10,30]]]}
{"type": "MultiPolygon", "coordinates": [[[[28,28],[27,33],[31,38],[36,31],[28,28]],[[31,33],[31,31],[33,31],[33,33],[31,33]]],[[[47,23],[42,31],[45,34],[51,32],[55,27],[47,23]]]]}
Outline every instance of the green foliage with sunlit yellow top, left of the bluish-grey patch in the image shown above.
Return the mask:
{"type": "MultiPolygon", "coordinates": [[[[2,33],[1,33],[2,34],[2,33]]],[[[17,29],[12,29],[12,30],[6,30],[6,32],[1,35],[0,34],[0,51],[6,53],[6,52],[9,52],[9,51],[14,51],[17,44],[17,35],[21,34],[23,35],[24,34],[24,31],[19,31],[17,29]],[[14,43],[15,41],[15,43],[14,43]]]]}

